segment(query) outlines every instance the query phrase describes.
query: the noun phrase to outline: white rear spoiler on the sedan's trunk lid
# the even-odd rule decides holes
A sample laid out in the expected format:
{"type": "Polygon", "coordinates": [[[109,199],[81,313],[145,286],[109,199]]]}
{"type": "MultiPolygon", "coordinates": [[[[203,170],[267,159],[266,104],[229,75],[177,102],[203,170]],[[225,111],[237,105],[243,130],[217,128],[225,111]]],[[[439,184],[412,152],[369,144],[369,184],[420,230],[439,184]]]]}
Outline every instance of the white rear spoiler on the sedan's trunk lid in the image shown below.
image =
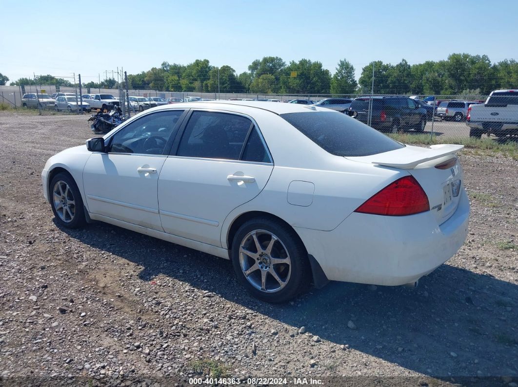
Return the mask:
{"type": "Polygon", "coordinates": [[[413,169],[419,164],[439,159],[462,148],[464,148],[464,145],[436,144],[429,148],[407,145],[405,148],[373,154],[372,156],[348,157],[347,159],[394,168],[413,169]]]}

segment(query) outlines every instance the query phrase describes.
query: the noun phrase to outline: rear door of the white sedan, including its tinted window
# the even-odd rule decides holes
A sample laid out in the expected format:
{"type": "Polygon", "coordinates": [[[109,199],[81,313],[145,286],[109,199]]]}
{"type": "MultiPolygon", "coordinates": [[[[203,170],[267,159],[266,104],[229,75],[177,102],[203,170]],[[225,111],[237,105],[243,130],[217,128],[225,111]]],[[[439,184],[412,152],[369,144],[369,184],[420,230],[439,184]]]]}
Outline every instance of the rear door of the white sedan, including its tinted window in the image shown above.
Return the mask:
{"type": "Polygon", "coordinates": [[[237,113],[193,110],[159,178],[166,233],[221,246],[221,226],[265,187],[273,161],[255,122],[237,113]]]}

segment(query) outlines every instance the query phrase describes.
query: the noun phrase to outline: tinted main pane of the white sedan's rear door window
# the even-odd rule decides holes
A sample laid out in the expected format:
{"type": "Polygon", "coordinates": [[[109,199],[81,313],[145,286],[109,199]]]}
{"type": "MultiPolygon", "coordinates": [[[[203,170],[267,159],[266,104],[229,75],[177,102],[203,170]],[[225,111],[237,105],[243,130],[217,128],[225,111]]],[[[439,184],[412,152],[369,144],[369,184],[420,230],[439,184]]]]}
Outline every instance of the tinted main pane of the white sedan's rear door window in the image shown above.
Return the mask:
{"type": "Polygon", "coordinates": [[[250,119],[235,114],[194,111],[177,156],[238,160],[252,125],[250,119]]]}

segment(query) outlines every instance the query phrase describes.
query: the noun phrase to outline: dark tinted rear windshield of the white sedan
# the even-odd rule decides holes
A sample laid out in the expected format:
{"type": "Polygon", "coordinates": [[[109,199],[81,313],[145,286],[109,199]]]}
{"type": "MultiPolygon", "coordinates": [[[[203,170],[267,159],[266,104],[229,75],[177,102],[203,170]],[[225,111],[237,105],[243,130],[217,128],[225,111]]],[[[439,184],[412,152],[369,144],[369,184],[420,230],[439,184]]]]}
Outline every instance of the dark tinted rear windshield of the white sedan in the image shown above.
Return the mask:
{"type": "Polygon", "coordinates": [[[280,116],[316,145],[335,156],[369,156],[405,147],[341,113],[307,112],[280,116]]]}

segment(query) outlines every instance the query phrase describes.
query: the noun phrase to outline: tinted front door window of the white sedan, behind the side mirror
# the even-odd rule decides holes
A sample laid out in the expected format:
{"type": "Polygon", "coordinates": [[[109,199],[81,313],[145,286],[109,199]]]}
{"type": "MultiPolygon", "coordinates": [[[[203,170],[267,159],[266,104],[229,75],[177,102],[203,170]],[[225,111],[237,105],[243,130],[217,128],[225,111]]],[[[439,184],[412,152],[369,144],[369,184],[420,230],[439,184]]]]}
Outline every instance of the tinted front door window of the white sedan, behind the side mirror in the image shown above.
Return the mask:
{"type": "Polygon", "coordinates": [[[156,112],[129,123],[111,137],[108,152],[162,154],[182,113],[156,112]]]}

